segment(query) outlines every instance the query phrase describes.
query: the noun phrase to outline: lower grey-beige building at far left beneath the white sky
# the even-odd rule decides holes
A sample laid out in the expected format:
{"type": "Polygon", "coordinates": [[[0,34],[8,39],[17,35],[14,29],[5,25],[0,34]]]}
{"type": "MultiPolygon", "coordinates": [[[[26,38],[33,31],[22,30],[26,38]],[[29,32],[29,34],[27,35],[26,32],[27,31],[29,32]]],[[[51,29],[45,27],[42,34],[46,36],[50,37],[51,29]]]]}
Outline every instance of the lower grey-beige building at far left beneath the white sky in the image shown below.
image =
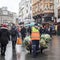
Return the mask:
{"type": "Polygon", "coordinates": [[[16,13],[7,10],[7,7],[0,8],[0,24],[16,23],[16,13]]]}

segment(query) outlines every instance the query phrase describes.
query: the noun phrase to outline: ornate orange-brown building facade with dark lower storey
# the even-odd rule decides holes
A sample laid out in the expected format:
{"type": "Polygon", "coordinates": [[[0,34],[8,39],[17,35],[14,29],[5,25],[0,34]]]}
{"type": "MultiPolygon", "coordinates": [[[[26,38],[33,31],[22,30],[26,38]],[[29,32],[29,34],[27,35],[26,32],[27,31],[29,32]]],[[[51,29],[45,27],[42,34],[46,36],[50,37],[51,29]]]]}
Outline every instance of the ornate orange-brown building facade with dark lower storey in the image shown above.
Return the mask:
{"type": "Polygon", "coordinates": [[[54,0],[32,0],[32,15],[38,23],[52,20],[54,17],[54,0]]]}

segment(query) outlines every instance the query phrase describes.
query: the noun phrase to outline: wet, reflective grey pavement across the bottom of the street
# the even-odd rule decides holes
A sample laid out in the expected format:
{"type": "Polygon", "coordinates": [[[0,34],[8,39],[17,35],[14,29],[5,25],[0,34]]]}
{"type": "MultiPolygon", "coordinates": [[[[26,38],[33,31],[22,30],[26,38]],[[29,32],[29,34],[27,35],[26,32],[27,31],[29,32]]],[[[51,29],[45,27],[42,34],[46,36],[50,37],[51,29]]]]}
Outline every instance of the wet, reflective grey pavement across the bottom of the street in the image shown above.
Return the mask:
{"type": "Polygon", "coordinates": [[[21,47],[16,45],[16,49],[12,49],[12,42],[7,45],[5,57],[0,55],[0,60],[60,60],[60,36],[53,36],[50,41],[49,48],[39,53],[36,58],[32,58],[31,54],[21,47]]]}

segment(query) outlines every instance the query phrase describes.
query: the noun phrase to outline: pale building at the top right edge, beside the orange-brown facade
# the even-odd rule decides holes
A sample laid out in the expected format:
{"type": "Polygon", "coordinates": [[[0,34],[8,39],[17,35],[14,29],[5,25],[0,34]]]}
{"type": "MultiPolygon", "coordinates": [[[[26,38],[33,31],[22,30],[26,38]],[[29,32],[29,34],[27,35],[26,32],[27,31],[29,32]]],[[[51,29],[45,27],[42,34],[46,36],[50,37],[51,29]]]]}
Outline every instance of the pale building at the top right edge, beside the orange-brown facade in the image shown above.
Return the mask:
{"type": "Polygon", "coordinates": [[[54,0],[54,16],[60,22],[60,0],[54,0]]]}

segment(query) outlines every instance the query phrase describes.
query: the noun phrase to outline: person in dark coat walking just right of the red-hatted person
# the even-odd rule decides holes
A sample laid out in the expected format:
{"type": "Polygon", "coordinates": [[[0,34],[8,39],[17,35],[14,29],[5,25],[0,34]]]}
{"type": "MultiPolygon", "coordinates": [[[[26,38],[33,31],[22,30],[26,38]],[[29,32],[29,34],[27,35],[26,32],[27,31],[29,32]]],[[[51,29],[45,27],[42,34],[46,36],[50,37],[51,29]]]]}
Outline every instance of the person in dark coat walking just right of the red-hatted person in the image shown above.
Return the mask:
{"type": "Polygon", "coordinates": [[[12,25],[10,33],[11,33],[11,40],[12,40],[12,48],[15,49],[15,45],[18,37],[18,30],[15,24],[12,25]]]}

